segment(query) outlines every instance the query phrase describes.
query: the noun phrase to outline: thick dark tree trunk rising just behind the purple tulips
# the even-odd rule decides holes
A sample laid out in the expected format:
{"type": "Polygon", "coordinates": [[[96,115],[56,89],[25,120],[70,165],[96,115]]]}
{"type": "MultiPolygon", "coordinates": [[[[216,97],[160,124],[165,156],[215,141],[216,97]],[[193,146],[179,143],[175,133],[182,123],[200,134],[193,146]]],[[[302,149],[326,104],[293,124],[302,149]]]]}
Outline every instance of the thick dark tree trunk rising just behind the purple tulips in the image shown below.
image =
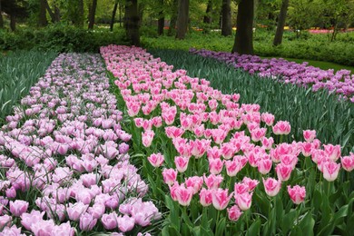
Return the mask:
{"type": "Polygon", "coordinates": [[[253,54],[253,0],[241,0],[238,5],[235,43],[232,53],[253,54]]]}

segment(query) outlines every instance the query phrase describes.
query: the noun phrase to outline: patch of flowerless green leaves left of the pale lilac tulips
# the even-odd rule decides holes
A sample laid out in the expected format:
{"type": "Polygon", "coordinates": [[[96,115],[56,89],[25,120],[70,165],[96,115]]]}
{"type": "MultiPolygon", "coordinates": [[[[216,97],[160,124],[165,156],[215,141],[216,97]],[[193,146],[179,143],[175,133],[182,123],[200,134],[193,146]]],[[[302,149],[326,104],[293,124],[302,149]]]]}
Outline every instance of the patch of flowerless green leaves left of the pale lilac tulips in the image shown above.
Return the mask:
{"type": "Polygon", "coordinates": [[[0,54],[0,123],[44,74],[54,52],[16,51],[0,54]]]}

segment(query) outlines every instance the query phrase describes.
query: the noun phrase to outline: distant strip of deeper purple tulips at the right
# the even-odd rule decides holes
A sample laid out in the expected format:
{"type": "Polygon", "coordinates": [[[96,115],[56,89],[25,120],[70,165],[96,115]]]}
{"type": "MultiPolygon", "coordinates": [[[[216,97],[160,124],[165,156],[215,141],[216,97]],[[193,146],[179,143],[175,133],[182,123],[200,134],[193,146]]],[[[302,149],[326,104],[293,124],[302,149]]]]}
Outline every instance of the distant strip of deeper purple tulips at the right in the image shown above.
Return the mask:
{"type": "Polygon", "coordinates": [[[354,103],[354,74],[350,75],[348,70],[334,73],[334,70],[325,71],[309,66],[308,63],[297,64],[282,58],[261,59],[257,55],[213,52],[205,49],[192,48],[190,53],[214,58],[250,74],[276,78],[287,84],[311,87],[312,91],[326,89],[329,93],[338,93],[344,99],[354,103]]]}

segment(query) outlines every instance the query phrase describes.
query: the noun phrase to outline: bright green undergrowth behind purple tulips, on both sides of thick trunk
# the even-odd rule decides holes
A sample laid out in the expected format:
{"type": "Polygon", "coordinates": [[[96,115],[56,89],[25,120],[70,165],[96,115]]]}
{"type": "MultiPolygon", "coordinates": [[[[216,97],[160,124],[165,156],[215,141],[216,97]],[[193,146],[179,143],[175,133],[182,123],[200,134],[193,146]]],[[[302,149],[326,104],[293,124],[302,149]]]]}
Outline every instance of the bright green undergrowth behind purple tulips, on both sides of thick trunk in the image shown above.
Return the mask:
{"type": "MultiPolygon", "coordinates": [[[[329,42],[329,35],[327,34],[306,33],[297,38],[295,33],[285,32],[283,43],[277,47],[272,45],[272,39],[272,32],[257,29],[253,43],[255,54],[354,65],[354,33],[339,34],[336,41],[329,42]]],[[[230,52],[233,40],[233,35],[222,37],[218,32],[211,32],[211,34],[190,32],[186,39],[182,41],[167,36],[159,38],[142,36],[142,44],[146,48],[185,51],[194,47],[230,52]]]]}

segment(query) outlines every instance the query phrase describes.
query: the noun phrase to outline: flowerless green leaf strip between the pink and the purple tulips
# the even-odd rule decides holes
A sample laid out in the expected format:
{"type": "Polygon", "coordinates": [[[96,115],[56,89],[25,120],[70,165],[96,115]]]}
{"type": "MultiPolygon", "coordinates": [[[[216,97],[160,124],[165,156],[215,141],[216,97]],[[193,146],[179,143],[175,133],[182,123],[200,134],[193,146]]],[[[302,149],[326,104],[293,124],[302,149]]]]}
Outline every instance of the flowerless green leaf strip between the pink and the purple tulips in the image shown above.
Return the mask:
{"type": "Polygon", "coordinates": [[[163,62],[185,69],[192,77],[206,78],[222,93],[240,93],[240,103],[259,103],[261,112],[274,113],[276,119],[289,121],[293,138],[302,141],[302,131],[314,129],[322,143],[341,144],[344,154],[354,152],[354,103],[338,101],[327,91],[310,89],[261,79],[235,70],[211,58],[184,51],[150,50],[163,62]]]}

